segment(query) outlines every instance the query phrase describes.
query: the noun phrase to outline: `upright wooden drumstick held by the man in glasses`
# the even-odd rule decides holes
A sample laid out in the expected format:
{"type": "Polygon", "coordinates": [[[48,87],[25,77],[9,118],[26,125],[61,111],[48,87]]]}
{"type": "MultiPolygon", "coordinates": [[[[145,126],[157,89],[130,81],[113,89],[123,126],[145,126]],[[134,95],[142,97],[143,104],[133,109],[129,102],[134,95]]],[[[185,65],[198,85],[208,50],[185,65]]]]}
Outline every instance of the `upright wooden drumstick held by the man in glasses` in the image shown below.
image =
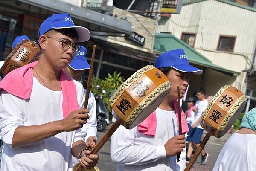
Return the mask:
{"type": "Polygon", "coordinates": [[[90,70],[89,70],[88,81],[87,81],[87,86],[86,86],[86,93],[85,93],[85,100],[84,100],[84,108],[85,109],[87,109],[87,106],[88,106],[90,84],[91,84],[91,80],[92,80],[92,76],[93,76],[93,62],[94,62],[94,56],[95,56],[95,49],[96,49],[96,45],[93,45],[93,53],[92,53],[92,58],[91,58],[91,63],[90,63],[90,70]]]}

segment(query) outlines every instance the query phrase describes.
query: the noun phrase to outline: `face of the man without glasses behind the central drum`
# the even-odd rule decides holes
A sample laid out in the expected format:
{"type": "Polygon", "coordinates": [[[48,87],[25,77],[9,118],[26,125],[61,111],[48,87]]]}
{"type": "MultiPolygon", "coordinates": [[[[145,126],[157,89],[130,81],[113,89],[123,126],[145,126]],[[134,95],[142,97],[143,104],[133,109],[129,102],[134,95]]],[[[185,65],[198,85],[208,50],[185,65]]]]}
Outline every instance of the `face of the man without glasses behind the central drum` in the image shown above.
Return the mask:
{"type": "Polygon", "coordinates": [[[169,97],[172,97],[174,99],[178,99],[178,91],[177,87],[180,87],[180,98],[182,98],[183,94],[186,92],[186,89],[189,85],[189,78],[190,78],[190,73],[186,72],[180,72],[178,70],[172,69],[169,71],[167,74],[167,78],[171,82],[172,88],[169,93],[169,97]]]}

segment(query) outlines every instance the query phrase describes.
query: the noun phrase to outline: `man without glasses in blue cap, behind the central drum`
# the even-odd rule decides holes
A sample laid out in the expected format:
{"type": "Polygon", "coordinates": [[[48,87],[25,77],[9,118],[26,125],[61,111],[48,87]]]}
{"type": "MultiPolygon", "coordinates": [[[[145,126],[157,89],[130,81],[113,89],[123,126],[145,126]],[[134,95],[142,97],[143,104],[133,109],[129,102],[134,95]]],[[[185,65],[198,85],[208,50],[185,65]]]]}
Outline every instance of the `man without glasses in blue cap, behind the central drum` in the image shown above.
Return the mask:
{"type": "Polygon", "coordinates": [[[173,103],[186,92],[190,75],[201,74],[202,70],[189,65],[183,49],[163,53],[154,65],[169,78],[172,89],[155,110],[153,136],[138,131],[138,126],[131,130],[119,127],[113,133],[111,158],[117,163],[117,171],[183,171],[186,167],[185,136],[178,133],[173,103]],[[177,86],[180,97],[177,97],[177,86]],[[177,162],[180,152],[180,162],[177,162]]]}

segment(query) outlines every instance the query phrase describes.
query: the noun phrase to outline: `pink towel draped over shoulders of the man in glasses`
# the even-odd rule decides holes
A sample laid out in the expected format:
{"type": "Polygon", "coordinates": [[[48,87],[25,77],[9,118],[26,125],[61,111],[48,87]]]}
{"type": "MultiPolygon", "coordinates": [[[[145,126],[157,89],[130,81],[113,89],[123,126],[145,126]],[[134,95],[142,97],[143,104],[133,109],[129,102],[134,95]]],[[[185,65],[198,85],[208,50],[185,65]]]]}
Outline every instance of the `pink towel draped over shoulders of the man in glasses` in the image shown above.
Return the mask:
{"type": "MultiPolygon", "coordinates": [[[[38,62],[32,62],[9,72],[0,82],[1,89],[23,99],[29,99],[33,86],[33,70],[38,62]]],[[[62,111],[66,118],[70,112],[79,109],[76,99],[76,85],[64,70],[60,73],[63,94],[62,111]]]]}

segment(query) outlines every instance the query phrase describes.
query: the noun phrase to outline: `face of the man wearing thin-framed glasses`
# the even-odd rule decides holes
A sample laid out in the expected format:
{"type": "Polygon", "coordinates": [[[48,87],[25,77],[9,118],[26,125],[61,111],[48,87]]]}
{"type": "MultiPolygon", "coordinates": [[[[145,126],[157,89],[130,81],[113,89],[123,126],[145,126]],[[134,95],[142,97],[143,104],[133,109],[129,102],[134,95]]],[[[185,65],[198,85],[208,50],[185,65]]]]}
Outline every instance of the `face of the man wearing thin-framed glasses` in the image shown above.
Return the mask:
{"type": "Polygon", "coordinates": [[[47,34],[46,36],[44,37],[43,49],[47,61],[49,61],[54,69],[59,70],[66,68],[70,61],[74,58],[75,54],[73,53],[72,45],[76,43],[76,38],[70,38],[58,32],[51,32],[49,35],[47,34]],[[72,45],[69,49],[63,48],[61,41],[61,39],[63,38],[68,39],[72,42],[72,45]]]}

